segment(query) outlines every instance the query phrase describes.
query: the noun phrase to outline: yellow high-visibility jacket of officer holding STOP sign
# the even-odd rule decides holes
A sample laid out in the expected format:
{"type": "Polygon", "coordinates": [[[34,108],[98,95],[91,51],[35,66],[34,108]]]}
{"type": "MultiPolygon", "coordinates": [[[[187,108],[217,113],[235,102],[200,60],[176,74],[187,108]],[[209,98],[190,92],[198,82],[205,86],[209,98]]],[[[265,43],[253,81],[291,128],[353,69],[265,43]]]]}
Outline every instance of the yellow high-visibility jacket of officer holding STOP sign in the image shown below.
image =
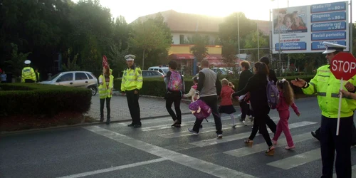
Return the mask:
{"type": "MultiPolygon", "coordinates": [[[[356,78],[353,76],[348,80],[352,85],[356,85],[356,78]]],[[[347,83],[347,81],[345,81],[347,83]]],[[[342,84],[343,90],[345,83],[342,84]]],[[[307,88],[302,88],[307,95],[317,95],[321,114],[329,118],[337,118],[339,110],[339,90],[340,80],[331,73],[330,65],[318,68],[315,77],[310,80],[307,88]]],[[[342,96],[340,117],[350,117],[356,109],[356,100],[342,96]]]]}

